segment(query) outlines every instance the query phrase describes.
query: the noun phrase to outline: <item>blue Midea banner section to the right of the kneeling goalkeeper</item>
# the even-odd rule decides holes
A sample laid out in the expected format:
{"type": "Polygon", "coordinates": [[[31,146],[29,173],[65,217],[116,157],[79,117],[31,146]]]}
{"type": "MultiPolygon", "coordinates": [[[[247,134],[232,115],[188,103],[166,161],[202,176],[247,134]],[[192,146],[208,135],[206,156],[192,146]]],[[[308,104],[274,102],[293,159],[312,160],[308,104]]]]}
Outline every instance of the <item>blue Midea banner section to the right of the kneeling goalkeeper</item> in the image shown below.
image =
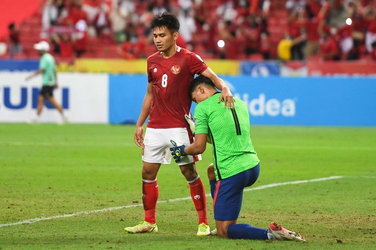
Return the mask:
{"type": "Polygon", "coordinates": [[[253,124],[376,125],[376,78],[224,76],[253,124]]]}

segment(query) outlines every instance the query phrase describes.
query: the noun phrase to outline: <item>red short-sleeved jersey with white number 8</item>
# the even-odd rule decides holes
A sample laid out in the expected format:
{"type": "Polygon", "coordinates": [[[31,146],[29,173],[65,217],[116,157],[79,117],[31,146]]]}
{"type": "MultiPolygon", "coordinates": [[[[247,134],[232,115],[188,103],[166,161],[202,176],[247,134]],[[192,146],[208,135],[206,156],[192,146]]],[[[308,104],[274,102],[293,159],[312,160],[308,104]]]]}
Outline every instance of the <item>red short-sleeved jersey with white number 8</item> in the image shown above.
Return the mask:
{"type": "Polygon", "coordinates": [[[188,88],[195,74],[207,68],[199,55],[181,47],[169,58],[159,51],[147,57],[147,80],[153,84],[147,127],[189,127],[184,118],[192,104],[188,88]]]}

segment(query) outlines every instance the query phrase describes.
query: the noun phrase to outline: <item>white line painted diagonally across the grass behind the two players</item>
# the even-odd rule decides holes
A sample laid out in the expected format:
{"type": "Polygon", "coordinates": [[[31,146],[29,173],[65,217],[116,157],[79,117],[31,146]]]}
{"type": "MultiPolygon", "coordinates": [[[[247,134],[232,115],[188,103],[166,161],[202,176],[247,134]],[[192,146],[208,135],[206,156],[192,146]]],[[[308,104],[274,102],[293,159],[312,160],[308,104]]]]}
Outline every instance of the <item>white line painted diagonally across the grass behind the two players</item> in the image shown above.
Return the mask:
{"type": "MultiPolygon", "coordinates": [[[[269,188],[269,187],[289,185],[289,184],[300,184],[300,183],[308,183],[308,182],[315,182],[315,181],[325,181],[325,180],[331,180],[331,179],[339,179],[339,178],[343,178],[343,177],[345,177],[345,176],[329,176],[329,177],[323,177],[323,178],[317,178],[317,179],[304,179],[304,180],[296,180],[296,181],[278,182],[278,183],[256,186],[256,187],[252,187],[252,188],[245,188],[244,191],[245,192],[246,191],[253,191],[253,190],[265,189],[265,188],[269,188]]],[[[206,196],[207,197],[211,196],[211,194],[207,193],[206,196]]],[[[157,203],[175,202],[175,201],[187,200],[187,199],[191,199],[191,196],[174,198],[174,199],[167,199],[167,200],[159,200],[157,203]]],[[[75,212],[75,213],[70,213],[70,214],[55,215],[55,216],[50,216],[50,217],[39,217],[39,218],[25,219],[25,220],[13,222],[13,223],[0,224],[0,227],[11,226],[11,225],[20,225],[20,224],[29,224],[29,223],[34,223],[34,222],[38,222],[38,221],[41,221],[41,220],[73,217],[73,216],[78,216],[78,215],[83,215],[83,214],[96,213],[96,212],[106,212],[106,211],[112,211],[112,210],[118,210],[118,209],[122,209],[122,208],[130,208],[130,207],[136,207],[136,206],[142,206],[142,204],[113,206],[113,207],[108,207],[108,208],[103,208],[103,209],[75,212]]]]}

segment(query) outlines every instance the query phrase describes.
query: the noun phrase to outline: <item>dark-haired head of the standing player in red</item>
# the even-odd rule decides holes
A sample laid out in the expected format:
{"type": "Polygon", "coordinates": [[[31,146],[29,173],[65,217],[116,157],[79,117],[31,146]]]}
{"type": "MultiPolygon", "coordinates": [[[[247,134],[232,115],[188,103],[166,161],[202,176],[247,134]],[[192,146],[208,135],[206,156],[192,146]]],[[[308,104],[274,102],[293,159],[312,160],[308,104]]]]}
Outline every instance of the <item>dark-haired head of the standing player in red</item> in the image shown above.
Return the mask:
{"type": "Polygon", "coordinates": [[[179,20],[173,14],[163,12],[155,15],[150,22],[154,44],[159,51],[164,51],[176,43],[179,20]]]}

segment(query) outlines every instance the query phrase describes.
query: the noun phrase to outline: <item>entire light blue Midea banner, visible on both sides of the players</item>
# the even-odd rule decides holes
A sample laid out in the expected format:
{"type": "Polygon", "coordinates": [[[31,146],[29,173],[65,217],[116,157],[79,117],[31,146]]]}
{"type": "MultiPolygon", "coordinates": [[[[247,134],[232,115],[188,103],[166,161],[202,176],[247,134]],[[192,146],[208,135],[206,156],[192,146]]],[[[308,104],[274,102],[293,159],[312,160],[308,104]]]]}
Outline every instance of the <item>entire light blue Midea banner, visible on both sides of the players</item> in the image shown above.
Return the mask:
{"type": "MultiPolygon", "coordinates": [[[[376,78],[222,78],[247,104],[252,124],[376,126],[376,78]]],[[[146,75],[110,75],[109,81],[109,122],[135,123],[146,75]]]]}

